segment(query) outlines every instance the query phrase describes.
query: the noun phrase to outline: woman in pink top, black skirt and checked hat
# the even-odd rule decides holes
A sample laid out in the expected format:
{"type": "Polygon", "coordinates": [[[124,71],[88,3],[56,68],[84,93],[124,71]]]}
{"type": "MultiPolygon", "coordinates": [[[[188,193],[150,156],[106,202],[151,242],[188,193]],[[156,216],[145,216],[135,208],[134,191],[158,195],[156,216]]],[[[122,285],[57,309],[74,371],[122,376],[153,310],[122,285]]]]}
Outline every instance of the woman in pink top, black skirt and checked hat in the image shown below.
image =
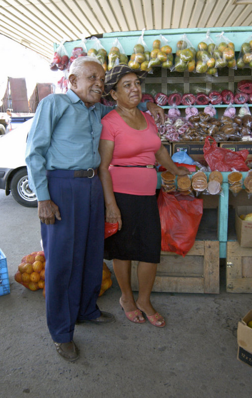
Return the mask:
{"type": "Polygon", "coordinates": [[[105,78],[105,94],[117,107],[102,119],[99,177],[104,191],[106,221],[117,222],[118,232],[105,239],[104,258],[113,268],[122,295],[120,305],[135,323],[166,322],[151,304],[150,295],[160,262],[161,227],[156,199],[155,160],[175,175],[189,171],[176,167],[161,144],[154,119],[137,108],[144,71],[128,66],[112,68],[105,78]],[[137,300],[131,289],[131,261],[139,261],[137,300]]]}

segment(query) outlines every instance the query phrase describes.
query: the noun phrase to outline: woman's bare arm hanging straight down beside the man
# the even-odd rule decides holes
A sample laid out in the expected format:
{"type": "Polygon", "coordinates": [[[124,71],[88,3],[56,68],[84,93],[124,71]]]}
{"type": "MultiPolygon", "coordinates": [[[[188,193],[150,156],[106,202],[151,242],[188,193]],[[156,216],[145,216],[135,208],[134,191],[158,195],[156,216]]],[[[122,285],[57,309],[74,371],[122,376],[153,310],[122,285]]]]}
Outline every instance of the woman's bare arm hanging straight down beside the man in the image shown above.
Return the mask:
{"type": "Polygon", "coordinates": [[[105,207],[106,207],[106,221],[117,222],[118,230],[122,227],[121,213],[116,204],[113,184],[108,167],[110,165],[114,150],[114,141],[100,139],[99,154],[101,162],[99,166],[99,178],[102,184],[105,207]]]}

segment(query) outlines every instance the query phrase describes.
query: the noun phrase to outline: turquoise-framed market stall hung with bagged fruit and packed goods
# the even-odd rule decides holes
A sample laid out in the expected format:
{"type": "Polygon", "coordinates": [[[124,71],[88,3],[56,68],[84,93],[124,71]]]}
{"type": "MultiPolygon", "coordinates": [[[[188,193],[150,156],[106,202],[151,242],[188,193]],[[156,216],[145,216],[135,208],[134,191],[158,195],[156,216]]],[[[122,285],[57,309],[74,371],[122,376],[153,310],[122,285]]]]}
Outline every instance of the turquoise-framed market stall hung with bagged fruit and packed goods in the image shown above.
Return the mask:
{"type": "MultiPolygon", "coordinates": [[[[57,56],[63,55],[62,46],[64,59],[67,56],[70,63],[71,58],[73,61],[76,56],[87,54],[100,59],[105,70],[116,63],[128,63],[132,68],[149,72],[142,92],[145,98],[167,109],[169,121],[166,128],[159,126],[159,132],[170,155],[186,151],[193,161],[206,167],[204,144],[207,136],[215,139],[218,148],[235,153],[247,151],[247,169],[237,169],[241,174],[241,189],[230,189],[229,176],[236,170],[230,166],[230,170],[221,171],[221,192],[196,194],[203,199],[204,211],[194,245],[184,257],[162,252],[154,290],[218,293],[219,260],[226,258],[227,291],[251,293],[252,222],[249,221],[248,229],[251,240],[241,249],[237,242],[235,213],[239,206],[248,206],[248,212],[252,212],[249,207],[252,206],[251,191],[244,185],[252,165],[252,28],[113,32],[103,34],[100,39],[55,44],[51,67],[63,70],[60,85],[64,91],[67,90],[63,82],[67,81],[68,68],[64,67],[64,62],[57,67],[57,56]],[[192,109],[196,109],[195,113],[192,109]],[[190,117],[196,114],[210,115],[220,124],[213,122],[209,126],[209,117],[194,123],[190,117]],[[245,115],[248,117],[243,120],[245,115]],[[178,119],[182,124],[175,125],[178,119]],[[192,124],[189,127],[188,120],[192,124]],[[182,129],[185,125],[186,134],[182,129]],[[234,253],[237,253],[235,259],[234,253]]],[[[162,180],[161,171],[157,170],[159,190],[162,180]]],[[[209,181],[210,172],[218,169],[203,170],[209,181]]],[[[174,187],[177,189],[177,180],[174,187]]],[[[195,191],[192,192],[195,195],[195,191]]],[[[136,264],[133,265],[132,284],[134,289],[138,288],[136,264]]]]}

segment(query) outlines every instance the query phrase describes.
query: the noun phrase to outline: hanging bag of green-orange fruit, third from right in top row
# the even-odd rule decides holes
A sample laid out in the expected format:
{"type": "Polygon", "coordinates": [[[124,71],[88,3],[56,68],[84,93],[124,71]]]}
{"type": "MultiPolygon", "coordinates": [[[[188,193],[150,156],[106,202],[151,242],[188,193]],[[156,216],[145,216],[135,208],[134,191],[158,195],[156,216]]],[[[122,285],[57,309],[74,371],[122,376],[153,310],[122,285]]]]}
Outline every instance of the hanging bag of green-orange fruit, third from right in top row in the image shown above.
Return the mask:
{"type": "Polygon", "coordinates": [[[210,37],[210,30],[206,32],[204,41],[198,43],[196,52],[196,72],[207,73],[208,75],[218,76],[217,68],[215,68],[216,44],[210,37]]]}

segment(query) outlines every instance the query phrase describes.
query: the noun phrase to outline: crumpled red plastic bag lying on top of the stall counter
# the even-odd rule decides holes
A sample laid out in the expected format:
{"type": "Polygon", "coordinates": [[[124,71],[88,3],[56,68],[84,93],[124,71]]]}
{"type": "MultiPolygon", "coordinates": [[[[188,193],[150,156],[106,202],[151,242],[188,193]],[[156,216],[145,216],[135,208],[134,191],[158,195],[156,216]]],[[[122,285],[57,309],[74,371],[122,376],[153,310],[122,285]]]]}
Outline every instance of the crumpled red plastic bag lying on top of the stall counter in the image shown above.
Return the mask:
{"type": "Polygon", "coordinates": [[[249,155],[248,149],[233,152],[227,148],[219,148],[213,137],[208,135],[203,146],[204,158],[212,171],[249,171],[245,161],[249,155]],[[209,138],[213,140],[210,144],[209,138]]]}

